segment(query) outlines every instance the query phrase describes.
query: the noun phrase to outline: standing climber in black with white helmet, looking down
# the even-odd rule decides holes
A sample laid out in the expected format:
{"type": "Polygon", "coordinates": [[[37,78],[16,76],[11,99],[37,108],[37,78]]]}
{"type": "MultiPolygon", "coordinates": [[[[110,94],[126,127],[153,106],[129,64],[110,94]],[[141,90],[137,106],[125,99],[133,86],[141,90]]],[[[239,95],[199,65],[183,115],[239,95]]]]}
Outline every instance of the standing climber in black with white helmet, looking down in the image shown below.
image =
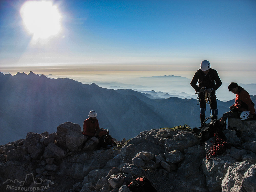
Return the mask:
{"type": "Polygon", "coordinates": [[[200,69],[195,72],[195,75],[190,82],[190,85],[198,93],[201,126],[205,120],[206,103],[208,101],[210,103],[212,119],[218,119],[218,109],[215,93],[216,90],[221,86],[222,82],[217,71],[210,67],[211,65],[209,61],[202,61],[200,69]]]}

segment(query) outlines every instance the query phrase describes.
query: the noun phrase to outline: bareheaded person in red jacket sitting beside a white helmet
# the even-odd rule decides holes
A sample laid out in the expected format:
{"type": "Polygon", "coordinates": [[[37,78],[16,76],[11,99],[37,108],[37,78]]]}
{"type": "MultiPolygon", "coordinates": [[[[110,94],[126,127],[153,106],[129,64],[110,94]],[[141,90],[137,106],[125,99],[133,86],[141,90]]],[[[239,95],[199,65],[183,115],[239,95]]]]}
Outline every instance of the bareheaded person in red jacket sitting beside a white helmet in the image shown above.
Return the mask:
{"type": "Polygon", "coordinates": [[[240,114],[243,111],[249,111],[249,118],[253,118],[255,110],[250,94],[235,82],[229,84],[228,90],[236,94],[236,99],[235,103],[230,106],[231,111],[223,114],[220,123],[223,124],[227,120],[228,116],[232,118],[240,118],[240,114]]]}

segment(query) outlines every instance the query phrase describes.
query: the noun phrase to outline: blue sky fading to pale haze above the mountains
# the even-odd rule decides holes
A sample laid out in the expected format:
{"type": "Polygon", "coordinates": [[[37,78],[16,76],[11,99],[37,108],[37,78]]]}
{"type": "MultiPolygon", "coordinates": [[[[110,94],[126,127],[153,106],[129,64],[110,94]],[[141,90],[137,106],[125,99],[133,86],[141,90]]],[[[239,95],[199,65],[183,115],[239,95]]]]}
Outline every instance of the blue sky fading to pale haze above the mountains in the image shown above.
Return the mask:
{"type": "Polygon", "coordinates": [[[209,60],[224,81],[256,83],[255,0],[62,0],[43,16],[25,2],[0,1],[2,72],[191,78],[209,60]]]}

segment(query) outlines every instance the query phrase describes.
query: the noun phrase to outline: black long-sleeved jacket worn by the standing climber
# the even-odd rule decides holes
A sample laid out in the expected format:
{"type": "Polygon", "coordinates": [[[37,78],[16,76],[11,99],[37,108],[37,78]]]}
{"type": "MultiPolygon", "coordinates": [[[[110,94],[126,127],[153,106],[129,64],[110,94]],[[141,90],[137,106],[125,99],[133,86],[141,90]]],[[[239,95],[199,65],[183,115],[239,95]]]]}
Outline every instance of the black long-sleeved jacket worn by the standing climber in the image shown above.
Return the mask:
{"type": "Polygon", "coordinates": [[[201,69],[198,69],[195,72],[195,75],[192,78],[190,85],[197,92],[199,92],[200,89],[203,87],[205,87],[206,89],[213,88],[214,90],[217,90],[221,86],[222,82],[219,78],[217,71],[212,68],[210,68],[209,70],[210,71],[207,73],[207,75],[205,75],[201,69]],[[197,81],[198,81],[198,86],[197,86],[197,81]]]}

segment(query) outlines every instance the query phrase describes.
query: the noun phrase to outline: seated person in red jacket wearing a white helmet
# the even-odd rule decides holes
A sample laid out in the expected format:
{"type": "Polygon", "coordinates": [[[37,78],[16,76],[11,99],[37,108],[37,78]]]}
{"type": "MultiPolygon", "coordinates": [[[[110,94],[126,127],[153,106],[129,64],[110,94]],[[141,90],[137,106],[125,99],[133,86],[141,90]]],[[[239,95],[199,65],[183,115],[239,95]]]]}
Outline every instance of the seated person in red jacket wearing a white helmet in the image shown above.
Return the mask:
{"type": "Polygon", "coordinates": [[[89,118],[83,122],[83,135],[89,139],[96,136],[96,131],[100,129],[100,126],[95,111],[90,111],[88,116],[89,118]]]}

